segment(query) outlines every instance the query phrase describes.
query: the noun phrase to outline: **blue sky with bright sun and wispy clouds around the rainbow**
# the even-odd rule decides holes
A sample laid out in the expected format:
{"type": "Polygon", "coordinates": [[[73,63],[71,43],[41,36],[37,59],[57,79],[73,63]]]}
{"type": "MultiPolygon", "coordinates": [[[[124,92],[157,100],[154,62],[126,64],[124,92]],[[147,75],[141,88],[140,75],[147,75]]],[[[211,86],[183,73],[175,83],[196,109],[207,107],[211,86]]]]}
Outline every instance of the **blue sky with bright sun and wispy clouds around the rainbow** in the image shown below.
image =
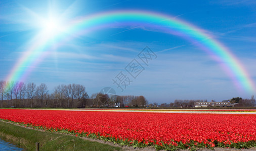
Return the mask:
{"type": "MultiPolygon", "coordinates": [[[[38,21],[53,16],[61,24],[115,10],[157,12],[204,30],[239,58],[256,84],[256,3],[254,1],[1,1],[0,80],[6,80],[29,41],[44,28],[38,21]]],[[[61,26],[60,24],[58,26],[61,26]]],[[[152,102],[175,99],[222,101],[250,98],[236,89],[221,65],[190,41],[147,28],[116,27],[80,34],[58,45],[36,66],[25,83],[83,84],[89,95],[112,87],[118,95],[143,95],[152,102]],[[112,79],[148,46],[157,58],[144,66],[122,92],[112,79]]],[[[128,73],[127,73],[128,74],[128,73]]],[[[131,77],[130,77],[131,78],[131,77]]],[[[131,79],[132,80],[132,79],[131,79]]]]}

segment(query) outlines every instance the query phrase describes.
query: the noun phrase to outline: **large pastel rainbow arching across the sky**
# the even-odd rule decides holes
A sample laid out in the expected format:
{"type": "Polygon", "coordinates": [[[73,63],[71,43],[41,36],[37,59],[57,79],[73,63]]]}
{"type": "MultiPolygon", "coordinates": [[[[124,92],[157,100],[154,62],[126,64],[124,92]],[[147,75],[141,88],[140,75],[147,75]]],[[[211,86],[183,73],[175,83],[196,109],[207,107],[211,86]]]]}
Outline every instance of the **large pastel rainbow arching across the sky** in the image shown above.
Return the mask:
{"type": "MultiPolygon", "coordinates": [[[[256,90],[249,74],[228,48],[212,38],[211,35],[206,34],[204,30],[172,16],[134,10],[94,14],[71,21],[65,26],[65,34],[57,35],[55,40],[57,39],[57,42],[63,41],[87,32],[115,27],[146,27],[156,32],[181,36],[196,43],[202,50],[214,57],[216,61],[221,62],[222,67],[239,90],[249,93],[256,90]]],[[[6,80],[24,81],[32,71],[31,66],[35,67],[41,61],[38,61],[38,59],[47,56],[52,46],[55,45],[55,43],[49,42],[48,39],[47,36],[40,36],[40,33],[36,38],[33,38],[28,44],[27,51],[16,62],[6,80]]]]}

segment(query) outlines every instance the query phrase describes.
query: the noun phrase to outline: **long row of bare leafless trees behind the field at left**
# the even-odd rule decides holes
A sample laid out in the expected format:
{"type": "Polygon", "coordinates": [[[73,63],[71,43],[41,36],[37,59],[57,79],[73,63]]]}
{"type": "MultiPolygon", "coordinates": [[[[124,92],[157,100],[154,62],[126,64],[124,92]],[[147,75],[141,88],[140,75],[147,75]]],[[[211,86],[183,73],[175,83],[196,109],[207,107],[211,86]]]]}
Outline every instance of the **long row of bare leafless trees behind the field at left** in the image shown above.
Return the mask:
{"type": "Polygon", "coordinates": [[[119,102],[121,107],[145,106],[148,102],[144,96],[117,96],[94,93],[89,97],[86,87],[80,84],[58,85],[49,93],[44,83],[18,81],[0,81],[1,107],[15,108],[85,108],[113,107],[119,102]]]}

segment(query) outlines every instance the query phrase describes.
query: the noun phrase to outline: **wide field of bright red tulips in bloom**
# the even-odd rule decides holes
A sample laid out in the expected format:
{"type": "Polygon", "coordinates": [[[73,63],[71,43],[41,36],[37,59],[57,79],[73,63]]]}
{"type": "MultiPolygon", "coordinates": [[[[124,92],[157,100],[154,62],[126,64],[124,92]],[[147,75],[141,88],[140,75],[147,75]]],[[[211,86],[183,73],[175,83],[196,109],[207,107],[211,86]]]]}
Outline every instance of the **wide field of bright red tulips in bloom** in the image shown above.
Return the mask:
{"type": "Polygon", "coordinates": [[[256,147],[255,114],[1,109],[0,119],[134,147],[256,147]]]}

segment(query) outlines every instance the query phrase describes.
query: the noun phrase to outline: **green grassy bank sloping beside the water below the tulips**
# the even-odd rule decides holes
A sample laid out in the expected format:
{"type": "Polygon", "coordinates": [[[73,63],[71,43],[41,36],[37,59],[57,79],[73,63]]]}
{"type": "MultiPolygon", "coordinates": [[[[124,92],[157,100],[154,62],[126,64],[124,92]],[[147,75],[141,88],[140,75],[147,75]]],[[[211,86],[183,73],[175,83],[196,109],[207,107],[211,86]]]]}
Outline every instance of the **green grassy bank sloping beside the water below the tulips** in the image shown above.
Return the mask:
{"type": "Polygon", "coordinates": [[[26,150],[35,150],[35,142],[40,143],[40,150],[121,150],[120,147],[76,136],[27,129],[3,121],[0,121],[0,138],[26,150]]]}

